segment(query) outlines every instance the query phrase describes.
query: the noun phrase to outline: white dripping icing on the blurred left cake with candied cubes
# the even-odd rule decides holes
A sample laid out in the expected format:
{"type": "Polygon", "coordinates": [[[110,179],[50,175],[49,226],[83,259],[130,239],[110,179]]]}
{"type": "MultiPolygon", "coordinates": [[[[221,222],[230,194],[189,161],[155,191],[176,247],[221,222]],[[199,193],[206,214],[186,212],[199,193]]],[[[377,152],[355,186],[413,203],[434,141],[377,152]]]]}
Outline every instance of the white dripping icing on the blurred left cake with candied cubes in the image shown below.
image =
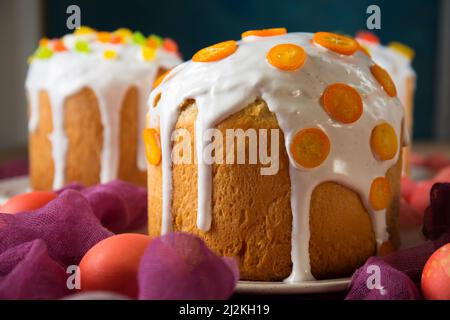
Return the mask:
{"type": "Polygon", "coordinates": [[[97,98],[103,126],[103,149],[101,153],[100,181],[116,179],[119,165],[120,111],[125,94],[136,87],[139,95],[137,167],[146,169],[145,148],[142,131],[145,128],[147,92],[157,76],[159,68],[169,69],[181,62],[171,52],[158,49],[152,61],[142,58],[141,47],[125,44],[102,43],[95,34],[66,35],[63,42],[68,51],[54,53],[49,59],[33,59],[26,79],[30,102],[29,131],[34,132],[39,123],[39,93],[47,91],[53,118],[52,156],[55,168],[53,188],[65,183],[65,163],[68,141],[64,129],[64,103],[67,97],[83,88],[90,88],[97,98]],[[90,52],[74,51],[79,40],[89,42],[90,52]],[[105,50],[117,52],[116,59],[103,57],[105,50]]]}

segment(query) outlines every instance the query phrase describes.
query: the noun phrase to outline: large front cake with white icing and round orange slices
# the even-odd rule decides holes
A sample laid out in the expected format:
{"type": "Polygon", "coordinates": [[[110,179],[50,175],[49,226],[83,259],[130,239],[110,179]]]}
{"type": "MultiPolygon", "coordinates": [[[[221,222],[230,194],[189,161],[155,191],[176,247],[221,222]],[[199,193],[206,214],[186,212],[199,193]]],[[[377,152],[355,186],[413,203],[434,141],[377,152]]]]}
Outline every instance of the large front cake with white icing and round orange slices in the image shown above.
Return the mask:
{"type": "Polygon", "coordinates": [[[174,68],[148,104],[151,236],[196,234],[262,281],[348,276],[399,245],[404,110],[354,39],[245,32],[174,68]],[[245,163],[228,162],[237,143],[205,157],[210,129],[214,141],[247,132],[245,163]],[[268,141],[253,162],[252,130],[268,141]]]}

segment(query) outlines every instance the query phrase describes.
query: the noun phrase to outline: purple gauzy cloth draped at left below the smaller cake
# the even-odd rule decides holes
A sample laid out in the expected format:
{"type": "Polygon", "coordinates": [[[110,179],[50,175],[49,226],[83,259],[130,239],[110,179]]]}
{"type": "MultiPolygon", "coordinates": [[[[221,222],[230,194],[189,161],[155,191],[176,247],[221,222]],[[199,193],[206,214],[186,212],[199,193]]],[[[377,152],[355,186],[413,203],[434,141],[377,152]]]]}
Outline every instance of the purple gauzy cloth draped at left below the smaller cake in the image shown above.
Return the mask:
{"type": "Polygon", "coordinates": [[[0,291],[5,298],[62,297],[66,284],[58,270],[65,273],[93,245],[112,236],[106,227],[119,232],[145,223],[145,189],[121,181],[77,189],[62,191],[35,211],[0,213],[0,291]],[[35,286],[27,280],[33,277],[35,286]]]}

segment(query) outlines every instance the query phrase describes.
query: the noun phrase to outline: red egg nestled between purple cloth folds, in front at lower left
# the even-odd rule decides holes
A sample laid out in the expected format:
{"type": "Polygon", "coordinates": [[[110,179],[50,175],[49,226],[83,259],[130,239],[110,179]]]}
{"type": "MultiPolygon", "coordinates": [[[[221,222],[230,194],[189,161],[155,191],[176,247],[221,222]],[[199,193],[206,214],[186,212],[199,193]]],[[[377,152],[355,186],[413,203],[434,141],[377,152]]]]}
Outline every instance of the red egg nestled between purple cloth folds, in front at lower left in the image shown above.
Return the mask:
{"type": "Polygon", "coordinates": [[[124,233],[93,246],[80,262],[82,291],[112,291],[131,298],[138,294],[137,273],[151,238],[124,233]]]}

